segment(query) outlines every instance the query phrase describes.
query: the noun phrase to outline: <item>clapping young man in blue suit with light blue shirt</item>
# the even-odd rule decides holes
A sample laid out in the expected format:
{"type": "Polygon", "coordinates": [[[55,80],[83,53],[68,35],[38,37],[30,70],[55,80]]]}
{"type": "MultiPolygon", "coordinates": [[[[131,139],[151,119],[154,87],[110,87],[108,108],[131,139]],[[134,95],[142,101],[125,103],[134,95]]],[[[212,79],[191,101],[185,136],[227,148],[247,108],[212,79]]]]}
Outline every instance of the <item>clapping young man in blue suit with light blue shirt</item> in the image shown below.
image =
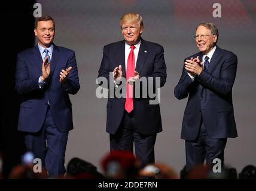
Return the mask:
{"type": "Polygon", "coordinates": [[[22,96],[18,130],[48,174],[65,173],[68,132],[73,129],[69,94],[80,89],[75,53],[53,44],[54,20],[35,21],[38,45],[17,55],[16,90],[22,96]]]}

